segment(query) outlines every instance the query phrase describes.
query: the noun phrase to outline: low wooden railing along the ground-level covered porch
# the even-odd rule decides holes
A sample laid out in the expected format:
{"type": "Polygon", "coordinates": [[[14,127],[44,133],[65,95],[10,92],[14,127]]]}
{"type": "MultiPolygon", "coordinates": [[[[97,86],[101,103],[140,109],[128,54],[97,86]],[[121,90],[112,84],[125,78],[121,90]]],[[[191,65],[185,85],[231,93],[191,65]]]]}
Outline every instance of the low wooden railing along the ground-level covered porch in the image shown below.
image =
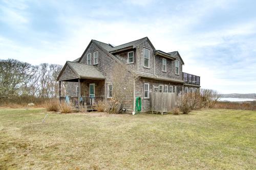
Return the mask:
{"type": "Polygon", "coordinates": [[[86,96],[81,96],[81,97],[72,97],[72,96],[68,96],[68,97],[60,97],[60,101],[66,101],[69,102],[70,104],[72,104],[72,106],[78,106],[78,104],[80,104],[80,106],[94,106],[98,101],[103,101],[104,98],[103,97],[86,97],[86,96]]]}

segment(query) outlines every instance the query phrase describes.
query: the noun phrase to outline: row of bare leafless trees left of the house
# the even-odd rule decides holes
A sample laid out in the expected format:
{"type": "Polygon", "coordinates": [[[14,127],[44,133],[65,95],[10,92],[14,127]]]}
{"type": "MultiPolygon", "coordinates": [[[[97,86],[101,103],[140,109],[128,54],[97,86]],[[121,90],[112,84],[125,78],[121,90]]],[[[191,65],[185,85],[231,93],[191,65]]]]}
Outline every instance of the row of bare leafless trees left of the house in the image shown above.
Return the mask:
{"type": "Polygon", "coordinates": [[[0,59],[0,100],[15,100],[23,96],[56,98],[61,68],[62,65],[58,64],[32,65],[14,59],[0,59]]]}

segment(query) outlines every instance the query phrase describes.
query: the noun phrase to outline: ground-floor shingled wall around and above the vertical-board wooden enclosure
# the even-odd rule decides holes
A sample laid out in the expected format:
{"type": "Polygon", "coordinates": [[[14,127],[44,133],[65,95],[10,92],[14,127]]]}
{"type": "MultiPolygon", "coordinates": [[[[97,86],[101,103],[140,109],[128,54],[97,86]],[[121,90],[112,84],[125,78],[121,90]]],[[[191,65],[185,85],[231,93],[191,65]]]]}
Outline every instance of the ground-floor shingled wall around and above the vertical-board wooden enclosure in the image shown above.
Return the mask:
{"type": "Polygon", "coordinates": [[[182,93],[183,93],[182,87],[183,87],[183,85],[173,83],[173,82],[141,78],[136,83],[136,88],[135,88],[135,98],[137,98],[137,97],[141,98],[141,112],[151,111],[150,99],[144,99],[144,83],[150,84],[150,92],[153,92],[154,86],[168,85],[168,86],[173,86],[173,89],[175,89],[175,86],[176,86],[176,88],[177,88],[177,105],[179,106],[182,104],[182,93]]]}

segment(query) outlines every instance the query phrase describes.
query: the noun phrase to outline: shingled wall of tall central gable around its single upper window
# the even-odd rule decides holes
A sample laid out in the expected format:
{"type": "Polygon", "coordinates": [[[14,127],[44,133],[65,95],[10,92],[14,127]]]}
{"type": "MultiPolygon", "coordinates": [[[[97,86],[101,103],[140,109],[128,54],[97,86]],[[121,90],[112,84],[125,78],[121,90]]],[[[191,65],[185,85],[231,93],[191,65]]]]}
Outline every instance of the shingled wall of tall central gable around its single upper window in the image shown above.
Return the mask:
{"type": "Polygon", "coordinates": [[[136,51],[137,51],[137,71],[154,75],[154,49],[152,48],[150,43],[148,43],[148,41],[144,41],[143,43],[137,46],[136,51]],[[143,62],[144,62],[143,48],[147,48],[148,50],[150,50],[150,68],[143,67],[143,62]]]}

